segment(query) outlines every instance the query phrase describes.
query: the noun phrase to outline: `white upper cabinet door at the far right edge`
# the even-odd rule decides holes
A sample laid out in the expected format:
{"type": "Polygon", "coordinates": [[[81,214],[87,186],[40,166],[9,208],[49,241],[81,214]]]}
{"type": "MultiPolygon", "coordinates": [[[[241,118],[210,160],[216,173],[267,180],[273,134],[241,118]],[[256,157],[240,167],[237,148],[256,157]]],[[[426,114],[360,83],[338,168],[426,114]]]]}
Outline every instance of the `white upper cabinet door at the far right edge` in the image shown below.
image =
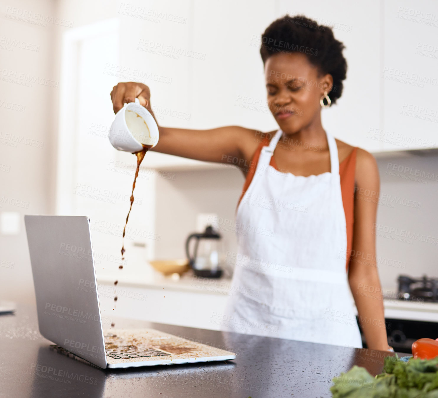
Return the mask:
{"type": "Polygon", "coordinates": [[[383,149],[437,147],[438,3],[383,4],[383,149]]]}

